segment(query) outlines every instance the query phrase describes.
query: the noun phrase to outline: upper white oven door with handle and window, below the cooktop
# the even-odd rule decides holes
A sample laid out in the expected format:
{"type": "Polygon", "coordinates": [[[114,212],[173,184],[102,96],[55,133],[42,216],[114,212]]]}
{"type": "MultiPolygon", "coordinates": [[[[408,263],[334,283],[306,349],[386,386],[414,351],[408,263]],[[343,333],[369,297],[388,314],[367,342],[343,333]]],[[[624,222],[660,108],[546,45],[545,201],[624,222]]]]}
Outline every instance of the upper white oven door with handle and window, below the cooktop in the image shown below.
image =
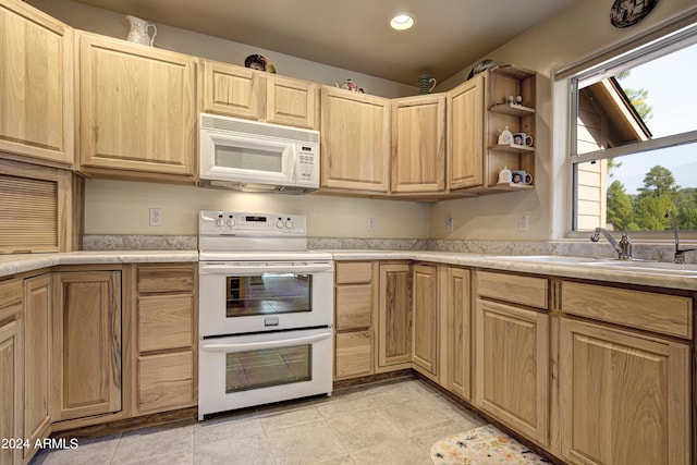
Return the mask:
{"type": "Polygon", "coordinates": [[[331,261],[201,261],[203,336],[327,327],[333,322],[331,261]]]}

